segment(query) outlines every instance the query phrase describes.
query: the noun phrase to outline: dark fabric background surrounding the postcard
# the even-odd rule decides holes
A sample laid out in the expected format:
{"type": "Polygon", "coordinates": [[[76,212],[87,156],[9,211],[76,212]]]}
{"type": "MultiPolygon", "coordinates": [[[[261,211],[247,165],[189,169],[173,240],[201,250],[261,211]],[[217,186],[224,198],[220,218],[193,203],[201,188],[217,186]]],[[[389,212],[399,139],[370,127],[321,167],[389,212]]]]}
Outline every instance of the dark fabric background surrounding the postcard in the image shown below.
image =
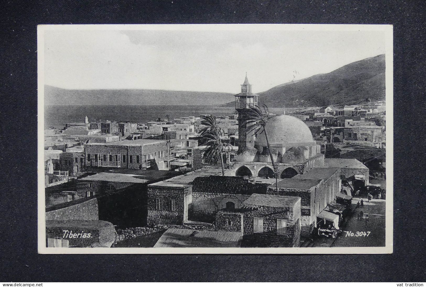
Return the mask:
{"type": "Polygon", "coordinates": [[[424,1],[2,1],[0,281],[426,281],[424,1]],[[37,24],[394,25],[394,253],[37,254],[37,24]]]}

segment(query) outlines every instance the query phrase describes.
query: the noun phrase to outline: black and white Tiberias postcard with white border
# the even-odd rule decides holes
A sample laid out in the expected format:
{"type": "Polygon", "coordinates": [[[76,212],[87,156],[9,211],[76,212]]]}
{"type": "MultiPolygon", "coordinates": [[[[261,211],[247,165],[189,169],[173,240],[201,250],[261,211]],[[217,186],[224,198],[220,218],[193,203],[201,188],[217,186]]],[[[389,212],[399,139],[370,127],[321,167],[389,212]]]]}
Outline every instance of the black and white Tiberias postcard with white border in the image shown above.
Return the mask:
{"type": "Polygon", "coordinates": [[[39,25],[38,253],[392,253],[392,33],[39,25]]]}

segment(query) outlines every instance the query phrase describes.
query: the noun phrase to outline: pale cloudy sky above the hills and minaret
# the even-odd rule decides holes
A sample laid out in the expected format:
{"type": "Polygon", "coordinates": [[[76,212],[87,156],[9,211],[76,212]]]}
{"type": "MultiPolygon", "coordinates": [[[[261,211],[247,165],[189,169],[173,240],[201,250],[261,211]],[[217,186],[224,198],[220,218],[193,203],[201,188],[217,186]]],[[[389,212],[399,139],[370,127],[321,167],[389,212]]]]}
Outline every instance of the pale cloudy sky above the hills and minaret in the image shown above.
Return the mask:
{"type": "Polygon", "coordinates": [[[259,93],[385,53],[383,31],[162,26],[44,31],[44,83],[237,94],[247,72],[259,93]]]}

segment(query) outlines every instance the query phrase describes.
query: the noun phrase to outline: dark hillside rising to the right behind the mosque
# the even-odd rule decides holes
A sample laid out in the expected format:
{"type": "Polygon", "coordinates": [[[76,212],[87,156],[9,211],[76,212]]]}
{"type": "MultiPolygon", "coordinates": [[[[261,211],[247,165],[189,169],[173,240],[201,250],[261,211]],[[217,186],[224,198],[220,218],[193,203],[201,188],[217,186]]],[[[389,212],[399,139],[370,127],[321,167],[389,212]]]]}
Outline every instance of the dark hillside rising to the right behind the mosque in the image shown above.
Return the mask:
{"type": "MultiPolygon", "coordinates": [[[[278,85],[259,94],[270,107],[357,104],[385,99],[385,55],[344,65],[328,74],[278,85]]],[[[233,106],[229,102],[226,106],[233,106]]]]}

